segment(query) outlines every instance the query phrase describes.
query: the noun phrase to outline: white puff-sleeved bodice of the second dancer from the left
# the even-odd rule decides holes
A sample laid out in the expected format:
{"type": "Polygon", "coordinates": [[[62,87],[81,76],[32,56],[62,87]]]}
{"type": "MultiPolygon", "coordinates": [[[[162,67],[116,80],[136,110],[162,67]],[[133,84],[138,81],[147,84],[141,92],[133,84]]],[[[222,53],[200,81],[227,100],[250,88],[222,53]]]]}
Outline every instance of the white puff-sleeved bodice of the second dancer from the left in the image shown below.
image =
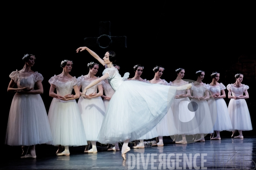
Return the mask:
{"type": "Polygon", "coordinates": [[[55,85],[57,90],[57,94],[61,96],[65,96],[67,94],[71,94],[73,90],[73,86],[77,85],[76,77],[72,77],[72,79],[68,82],[59,81],[58,77],[54,75],[48,81],[50,84],[55,85]]]}

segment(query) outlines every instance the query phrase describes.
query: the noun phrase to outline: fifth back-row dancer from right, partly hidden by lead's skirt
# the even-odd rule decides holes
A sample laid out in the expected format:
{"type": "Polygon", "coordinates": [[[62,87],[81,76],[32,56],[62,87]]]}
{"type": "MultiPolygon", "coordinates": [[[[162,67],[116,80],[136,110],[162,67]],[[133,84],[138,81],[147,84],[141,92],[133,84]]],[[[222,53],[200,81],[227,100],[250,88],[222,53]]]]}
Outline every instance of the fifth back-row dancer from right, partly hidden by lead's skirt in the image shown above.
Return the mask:
{"type": "MultiPolygon", "coordinates": [[[[164,68],[161,65],[157,65],[153,68],[154,78],[149,80],[150,83],[159,84],[159,85],[169,85],[165,79],[161,79],[160,77],[163,75],[164,68]]],[[[169,108],[168,113],[163,117],[161,122],[156,126],[157,129],[157,137],[158,141],[155,144],[151,144],[151,146],[163,146],[163,136],[171,136],[173,134],[169,133],[168,125],[174,125],[173,119],[168,119],[170,116],[173,116],[171,107],[169,108]]],[[[172,128],[173,130],[174,128],[172,128]]]]}

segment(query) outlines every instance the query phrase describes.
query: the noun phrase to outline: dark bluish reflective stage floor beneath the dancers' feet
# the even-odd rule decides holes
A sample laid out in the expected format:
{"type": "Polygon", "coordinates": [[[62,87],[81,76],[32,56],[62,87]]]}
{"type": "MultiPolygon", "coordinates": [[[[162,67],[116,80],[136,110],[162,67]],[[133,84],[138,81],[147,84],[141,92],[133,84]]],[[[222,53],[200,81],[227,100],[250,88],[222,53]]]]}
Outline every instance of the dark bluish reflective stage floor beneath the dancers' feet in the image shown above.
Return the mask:
{"type": "Polygon", "coordinates": [[[172,144],[170,137],[164,137],[163,147],[145,145],[144,149],[133,149],[130,143],[126,160],[122,159],[121,151],[106,151],[106,145],[99,143],[98,153],[85,154],[84,146],[70,147],[70,156],[56,156],[57,147],[51,145],[36,145],[37,159],[20,159],[21,147],[5,145],[0,169],[255,169],[256,136],[222,137],[220,141],[205,139],[205,142],[172,144]]]}

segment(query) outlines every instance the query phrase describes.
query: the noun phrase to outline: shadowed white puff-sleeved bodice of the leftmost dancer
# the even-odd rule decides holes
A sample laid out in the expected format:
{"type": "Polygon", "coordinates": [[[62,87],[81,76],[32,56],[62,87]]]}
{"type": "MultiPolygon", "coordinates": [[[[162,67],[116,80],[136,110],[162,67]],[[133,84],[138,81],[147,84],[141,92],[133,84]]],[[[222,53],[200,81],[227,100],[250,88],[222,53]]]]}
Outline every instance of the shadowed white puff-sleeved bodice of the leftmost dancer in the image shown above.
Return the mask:
{"type": "Polygon", "coordinates": [[[24,87],[28,87],[28,88],[34,88],[35,83],[38,80],[42,80],[44,79],[44,77],[42,76],[42,74],[38,73],[37,71],[33,74],[31,74],[28,77],[21,77],[19,74],[19,71],[13,71],[9,77],[15,82],[17,83],[17,88],[24,88],[24,87]]]}

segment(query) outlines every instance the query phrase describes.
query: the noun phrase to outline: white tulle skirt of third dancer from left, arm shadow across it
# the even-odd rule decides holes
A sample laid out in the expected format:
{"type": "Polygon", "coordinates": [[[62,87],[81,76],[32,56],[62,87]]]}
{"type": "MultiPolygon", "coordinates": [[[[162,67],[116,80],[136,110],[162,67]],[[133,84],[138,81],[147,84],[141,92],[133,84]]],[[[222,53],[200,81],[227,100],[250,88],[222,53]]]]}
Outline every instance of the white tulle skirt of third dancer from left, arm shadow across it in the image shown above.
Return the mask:
{"type": "Polygon", "coordinates": [[[99,130],[105,116],[105,105],[101,97],[78,100],[87,141],[98,141],[99,130]]]}

